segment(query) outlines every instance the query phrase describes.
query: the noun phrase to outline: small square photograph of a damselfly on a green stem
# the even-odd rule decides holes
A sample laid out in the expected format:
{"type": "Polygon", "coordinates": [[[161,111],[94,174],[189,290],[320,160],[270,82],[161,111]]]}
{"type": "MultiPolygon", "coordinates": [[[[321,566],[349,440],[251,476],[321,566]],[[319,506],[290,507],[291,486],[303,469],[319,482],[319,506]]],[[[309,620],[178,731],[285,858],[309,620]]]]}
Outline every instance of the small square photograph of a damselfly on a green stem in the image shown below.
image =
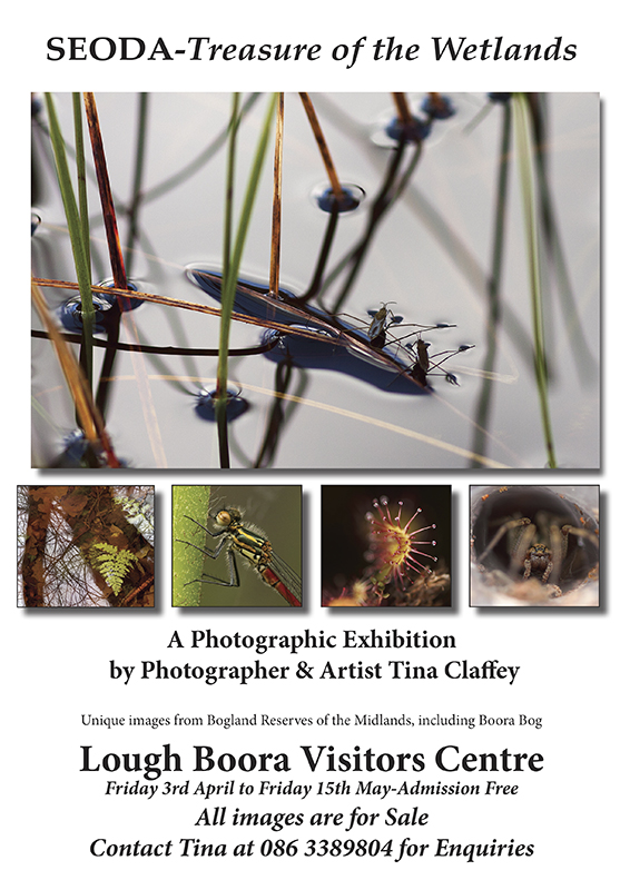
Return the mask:
{"type": "Polygon", "coordinates": [[[174,485],[173,605],[302,606],[301,485],[174,485]]]}

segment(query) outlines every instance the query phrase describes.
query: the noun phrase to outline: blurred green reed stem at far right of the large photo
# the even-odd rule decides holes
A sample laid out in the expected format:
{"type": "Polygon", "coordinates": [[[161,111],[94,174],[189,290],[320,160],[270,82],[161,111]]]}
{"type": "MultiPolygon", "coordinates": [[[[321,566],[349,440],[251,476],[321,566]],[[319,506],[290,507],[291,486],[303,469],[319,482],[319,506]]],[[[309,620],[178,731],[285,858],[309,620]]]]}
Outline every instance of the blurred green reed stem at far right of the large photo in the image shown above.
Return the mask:
{"type": "Polygon", "coordinates": [[[534,339],[534,373],[539,394],[542,429],[547,448],[548,465],[555,467],[555,448],[551,429],[551,414],[549,409],[549,389],[547,360],[544,354],[544,327],[542,314],[542,287],[539,253],[539,227],[534,186],[534,165],[532,128],[528,100],[524,93],[514,93],[514,130],[516,137],[516,152],[521,175],[521,191],[525,224],[525,240],[528,248],[528,265],[530,274],[530,293],[534,339]]]}

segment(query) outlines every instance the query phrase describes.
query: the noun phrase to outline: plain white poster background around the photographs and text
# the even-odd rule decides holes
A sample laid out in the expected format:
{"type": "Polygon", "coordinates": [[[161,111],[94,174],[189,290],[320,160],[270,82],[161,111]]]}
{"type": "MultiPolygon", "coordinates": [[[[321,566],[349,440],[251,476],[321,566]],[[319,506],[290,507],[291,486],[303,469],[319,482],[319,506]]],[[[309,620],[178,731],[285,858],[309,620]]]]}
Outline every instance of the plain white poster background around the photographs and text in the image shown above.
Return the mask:
{"type": "MultiPolygon", "coordinates": [[[[442,878],[465,880],[471,888],[555,886],[577,890],[594,883],[617,887],[622,882],[627,819],[622,814],[627,794],[627,700],[626,629],[628,622],[628,477],[627,477],[627,337],[628,286],[624,259],[628,243],[628,99],[626,30],[619,4],[602,2],[594,8],[572,3],[530,2],[461,3],[407,7],[394,11],[391,4],[380,10],[355,8],[321,0],[313,6],[297,3],[217,4],[179,2],[168,13],[156,6],[144,12],[116,0],[97,10],[85,3],[66,3],[60,11],[51,4],[18,8],[6,24],[2,49],[3,105],[7,123],[3,132],[6,177],[2,202],[2,245],[6,269],[4,300],[8,309],[2,350],[7,429],[2,469],[2,547],[6,591],[2,597],[6,644],[2,652],[3,683],[3,810],[8,819],[9,874],[11,886],[30,888],[56,880],[71,888],[167,887],[174,880],[218,883],[256,882],[258,886],[317,886],[322,880],[352,880],[367,888],[384,881],[407,882],[442,878]],[[613,11],[614,10],[614,11],[613,11]],[[18,24],[19,22],[19,24],[18,24]],[[353,43],[367,36],[367,43],[395,34],[404,43],[420,43],[422,61],[375,65],[362,59],[351,71],[343,63],[322,59],[316,63],[283,63],[274,67],[204,65],[203,62],[100,62],[53,63],[46,61],[46,40],[56,34],[141,36],[147,44],[163,36],[170,44],[184,44],[190,34],[210,36],[217,42],[319,42],[324,47],[353,43]],[[562,34],[564,42],[577,43],[578,57],[571,62],[441,62],[431,60],[434,34],[481,42],[503,34],[508,42],[551,42],[562,34]],[[623,68],[622,68],[623,66],[623,68]],[[319,486],[341,483],[347,477],[315,473],[259,473],[256,481],[298,483],[305,491],[308,516],[306,590],[309,609],[299,614],[236,619],[214,613],[177,614],[166,603],[170,595],[169,507],[174,482],[217,482],[218,474],[142,473],[129,471],[130,481],[155,484],[159,495],[158,518],[163,557],[158,613],[96,615],[86,612],[27,614],[14,607],[16,486],[46,478],[63,483],[71,474],[38,474],[29,468],[29,336],[28,336],[28,240],[24,212],[29,207],[29,105],[27,90],[579,90],[599,91],[602,97],[602,257],[603,257],[603,461],[602,473],[574,473],[567,484],[600,484],[602,490],[602,599],[598,611],[548,610],[544,614],[508,610],[499,615],[479,614],[465,605],[467,486],[492,484],[466,473],[410,474],[401,481],[453,485],[455,506],[455,567],[460,583],[459,609],[452,613],[425,614],[401,610],[376,623],[374,613],[327,614],[316,605],[319,592],[318,528],[319,486]],[[367,631],[427,630],[452,633],[457,641],[456,657],[471,663],[499,659],[502,664],[520,665],[514,685],[506,683],[454,681],[366,682],[321,681],[304,685],[286,683],[206,686],[201,683],[131,682],[122,686],[108,679],[109,661],[137,664],[141,660],[210,664],[229,662],[211,651],[167,650],[174,630],[187,634],[191,629],[213,627],[216,632],[287,632],[308,629],[337,632],[345,627],[367,631]],[[540,716],[543,729],[520,730],[87,730],[82,713],[144,716],[175,713],[312,715],[326,713],[407,713],[540,716]],[[520,794],[501,801],[460,798],[421,799],[430,813],[423,829],[381,829],[365,837],[411,837],[415,842],[437,837],[453,842],[499,841],[534,843],[529,859],[488,859],[469,864],[464,860],[424,857],[394,864],[392,860],[303,859],[301,856],[262,859],[95,859],[88,852],[95,838],[109,842],[164,842],[183,837],[203,842],[226,840],[218,830],[195,828],[203,809],[196,798],[106,798],[105,780],[99,774],[79,772],[80,745],[95,751],[159,750],[170,742],[185,758],[195,744],[209,744],[218,751],[287,751],[298,761],[301,744],[333,744],[352,750],[355,744],[386,751],[424,751],[427,759],[442,744],[457,744],[464,751],[540,751],[545,758],[542,773],[524,777],[520,794]],[[213,833],[215,832],[215,833],[213,833]],[[426,835],[426,837],[425,837],[426,835]]],[[[102,475],[81,478],[102,483],[102,475]]],[[[356,484],[374,482],[378,474],[353,474],[356,484]]],[[[387,479],[391,476],[386,476],[387,479]]],[[[555,478],[555,476],[554,476],[555,478]]],[[[112,476],[108,479],[114,481],[112,476]]],[[[513,474],[510,482],[538,483],[543,474],[513,474]]],[[[226,482],[225,476],[220,476],[226,482]]],[[[229,477],[230,483],[249,477],[229,477]]],[[[501,479],[504,482],[504,479],[501,479]]],[[[405,653],[416,663],[442,665],[440,653],[405,653]]],[[[337,651],[338,663],[357,660],[337,651]]],[[[363,655],[368,663],[377,653],[363,655]]],[[[314,657],[323,663],[324,656],[314,657]]],[[[386,660],[383,656],[381,660],[386,660]]],[[[236,657],[237,663],[247,661],[236,657]]],[[[288,656],[280,663],[293,663],[288,656]]],[[[187,778],[186,773],[184,778],[187,778]]],[[[291,774],[289,774],[291,775],[291,774]]],[[[457,774],[454,774],[459,778],[457,774]]],[[[126,779],[136,775],[124,775],[126,779]]],[[[177,781],[177,777],[174,777],[177,781]]],[[[193,777],[195,778],[195,777],[193,777]]],[[[218,781],[214,774],[201,779],[218,781]]],[[[225,777],[219,777],[224,778],[225,777]]],[[[227,777],[229,778],[229,777],[227,777]]],[[[244,777],[237,775],[238,779],[244,777]]],[[[246,777],[245,777],[246,778],[246,777]]],[[[260,777],[253,777],[257,782],[260,777]]],[[[265,777],[262,777],[265,778],[265,777]]],[[[287,775],[282,775],[286,780],[287,775]]],[[[296,765],[293,778],[301,782],[343,777],[311,777],[296,765]]],[[[351,781],[366,778],[353,775],[351,781]]],[[[370,778],[370,777],[367,777],[370,778]]],[[[400,777],[398,777],[400,778],[400,777]]],[[[403,777],[404,778],[404,777],[403,777]]],[[[414,777],[410,777],[414,778],[414,777]]],[[[436,771],[420,777],[436,781],[436,771]]],[[[475,780],[474,777],[469,781],[475,780]]],[[[478,777],[479,778],[479,777],[478,777]]],[[[481,777],[483,782],[483,777],[481,777]]],[[[506,781],[510,781],[508,778],[506,781]]],[[[383,812],[382,802],[358,801],[365,811],[383,812]]],[[[214,805],[213,801],[209,805],[214,805]]],[[[222,800],[229,808],[246,801],[222,800]]],[[[354,805],[354,801],[353,801],[354,805]]],[[[408,799],[392,804],[411,810],[408,799]]],[[[269,798],[253,799],[249,809],[311,813],[313,810],[347,811],[344,799],[322,798],[313,802],[269,798]]],[[[380,823],[382,825],[382,822],[380,823]]],[[[288,839],[291,831],[274,834],[247,829],[234,830],[228,847],[250,838],[288,839]]],[[[296,832],[294,832],[296,833],[296,832]]],[[[357,837],[360,837],[358,834],[357,837]]],[[[293,837],[293,834],[292,834],[293,837]]],[[[301,830],[301,838],[308,837],[301,830]]],[[[317,832],[317,837],[325,833],[317,832]]],[[[328,833],[333,837],[333,832],[328,833]]],[[[6,867],[7,868],[7,867],[6,867]]],[[[7,873],[6,869],[4,872],[7,873]]]]}

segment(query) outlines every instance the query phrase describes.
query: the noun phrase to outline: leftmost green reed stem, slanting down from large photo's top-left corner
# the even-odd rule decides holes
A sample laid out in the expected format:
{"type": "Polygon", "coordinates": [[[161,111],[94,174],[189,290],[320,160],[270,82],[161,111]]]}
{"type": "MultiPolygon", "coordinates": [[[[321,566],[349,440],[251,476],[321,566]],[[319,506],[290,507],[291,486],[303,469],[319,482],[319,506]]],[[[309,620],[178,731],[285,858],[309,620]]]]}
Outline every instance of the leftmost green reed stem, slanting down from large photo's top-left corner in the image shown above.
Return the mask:
{"type": "MultiPolygon", "coordinates": [[[[72,258],[75,260],[75,268],[77,270],[77,281],[79,283],[79,294],[81,295],[81,319],[83,327],[83,365],[88,385],[92,385],[92,333],[95,325],[95,309],[92,304],[91,290],[91,275],[89,265],[89,227],[87,221],[87,214],[81,221],[79,209],[77,207],[77,199],[75,197],[75,189],[72,188],[72,180],[70,179],[70,170],[68,168],[68,159],[66,157],[66,147],[63,145],[63,135],[57,118],[57,111],[51,93],[45,93],[46,109],[48,112],[48,121],[50,126],[50,141],[52,144],[52,151],[55,155],[55,166],[57,168],[57,179],[59,181],[59,190],[61,192],[61,200],[63,201],[63,210],[66,212],[66,221],[68,224],[68,233],[70,235],[70,245],[72,248],[72,258]],[[87,236],[86,236],[86,228],[87,236]]],[[[76,119],[75,119],[76,120],[76,119]]],[[[77,129],[77,123],[75,123],[77,129]]],[[[82,150],[78,150],[82,156],[82,150]]],[[[79,165],[79,161],[77,160],[79,165]]],[[[83,164],[85,176],[85,164],[83,164]]],[[[80,188],[80,186],[79,186],[80,188]]]]}

